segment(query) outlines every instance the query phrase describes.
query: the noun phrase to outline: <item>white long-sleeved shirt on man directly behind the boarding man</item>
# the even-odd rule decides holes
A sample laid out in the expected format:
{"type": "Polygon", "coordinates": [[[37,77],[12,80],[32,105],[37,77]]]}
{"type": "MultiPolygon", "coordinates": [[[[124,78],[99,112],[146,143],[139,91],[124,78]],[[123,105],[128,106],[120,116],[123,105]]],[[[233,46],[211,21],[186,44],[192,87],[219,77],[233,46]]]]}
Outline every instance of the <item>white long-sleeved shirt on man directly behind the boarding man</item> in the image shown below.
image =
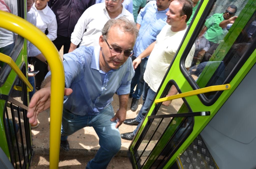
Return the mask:
{"type": "MultiPolygon", "coordinates": [[[[126,17],[134,22],[133,15],[125,8],[118,17],[126,17]]],[[[105,23],[110,19],[105,3],[94,4],[90,6],[77,21],[73,33],[71,34],[71,42],[80,46],[98,46],[101,30],[105,23]]]]}

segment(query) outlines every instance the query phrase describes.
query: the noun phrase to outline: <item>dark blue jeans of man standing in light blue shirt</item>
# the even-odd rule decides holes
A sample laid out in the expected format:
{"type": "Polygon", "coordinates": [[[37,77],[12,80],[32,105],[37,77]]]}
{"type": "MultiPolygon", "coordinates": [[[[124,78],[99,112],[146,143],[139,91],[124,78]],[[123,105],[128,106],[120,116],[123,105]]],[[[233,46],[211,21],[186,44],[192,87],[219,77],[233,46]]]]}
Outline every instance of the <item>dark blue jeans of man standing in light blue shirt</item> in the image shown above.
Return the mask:
{"type": "MultiPolygon", "coordinates": [[[[136,59],[135,56],[132,56],[133,60],[136,59]]],[[[141,63],[140,65],[135,69],[135,74],[132,78],[132,81],[131,81],[131,91],[130,93],[133,93],[132,94],[132,98],[134,99],[140,99],[141,98],[141,95],[142,95],[142,92],[143,92],[143,86],[144,86],[144,72],[145,72],[145,69],[146,69],[146,65],[147,65],[147,60],[148,58],[144,58],[141,60],[141,63]],[[134,91],[134,88],[135,86],[137,85],[136,87],[136,90],[134,91]]]]}

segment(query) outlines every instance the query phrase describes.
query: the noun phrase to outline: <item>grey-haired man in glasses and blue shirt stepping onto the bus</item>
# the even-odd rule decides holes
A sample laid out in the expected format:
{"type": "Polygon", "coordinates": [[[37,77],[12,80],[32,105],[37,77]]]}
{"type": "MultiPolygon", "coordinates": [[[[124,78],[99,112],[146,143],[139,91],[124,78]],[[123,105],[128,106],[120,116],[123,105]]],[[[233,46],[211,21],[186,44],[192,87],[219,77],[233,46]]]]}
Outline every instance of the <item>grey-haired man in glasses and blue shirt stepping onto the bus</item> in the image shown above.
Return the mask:
{"type": "MultiPolygon", "coordinates": [[[[110,19],[102,29],[99,47],[79,47],[64,55],[65,94],[61,147],[69,150],[67,137],[91,126],[99,136],[100,149],[86,168],[106,168],[121,148],[118,127],[126,118],[130,83],[134,69],[130,56],[138,31],[124,17],[110,19]],[[112,97],[119,95],[119,110],[114,114],[112,97]]],[[[38,112],[50,105],[50,72],[42,89],[31,99],[27,117],[37,123],[38,112]],[[41,106],[40,106],[41,105],[41,106]]]]}

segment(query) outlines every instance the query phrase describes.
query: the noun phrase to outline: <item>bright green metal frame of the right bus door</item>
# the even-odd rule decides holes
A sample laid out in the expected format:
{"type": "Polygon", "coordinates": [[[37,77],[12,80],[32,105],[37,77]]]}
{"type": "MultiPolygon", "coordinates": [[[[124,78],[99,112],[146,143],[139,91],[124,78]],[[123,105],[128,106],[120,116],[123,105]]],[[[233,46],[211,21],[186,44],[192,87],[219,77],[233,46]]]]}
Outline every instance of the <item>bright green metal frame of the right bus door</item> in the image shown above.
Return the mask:
{"type": "MultiPolygon", "coordinates": [[[[155,99],[159,99],[160,98],[160,96],[162,95],[162,93],[163,93],[167,83],[171,79],[173,79],[177,83],[178,87],[180,88],[180,90],[182,92],[188,92],[188,91],[192,91],[193,90],[193,88],[190,86],[190,84],[188,83],[187,79],[183,75],[182,71],[180,70],[180,59],[182,57],[183,52],[185,51],[186,46],[188,45],[189,39],[191,38],[191,35],[193,34],[193,32],[194,32],[194,30],[196,28],[196,25],[197,25],[200,17],[202,16],[202,13],[204,12],[204,10],[205,10],[205,8],[206,8],[208,3],[209,3],[209,1],[203,1],[202,2],[201,7],[198,10],[198,14],[195,17],[195,20],[193,22],[193,25],[191,25],[190,30],[189,30],[189,32],[188,32],[188,34],[187,34],[187,36],[186,36],[182,46],[180,47],[180,50],[179,50],[179,52],[178,52],[178,54],[177,54],[173,64],[171,65],[171,68],[169,69],[169,72],[166,75],[165,80],[162,83],[162,86],[160,87],[160,89],[158,89],[158,92],[156,94],[156,98],[155,99]],[[173,76],[173,75],[175,75],[175,76],[173,76]]],[[[229,41],[228,45],[226,45],[223,42],[216,49],[216,51],[219,51],[219,50],[220,51],[225,51],[225,52],[222,52],[222,53],[220,53],[220,52],[219,53],[218,52],[214,53],[214,56],[218,56],[220,58],[219,60],[222,60],[223,56],[226,55],[228,50],[231,48],[233,42],[236,40],[236,38],[238,37],[238,35],[241,32],[241,31],[234,32],[233,30],[235,28],[237,28],[237,27],[243,28],[245,26],[245,24],[247,22],[239,22],[239,21],[240,20],[244,21],[244,20],[246,20],[246,18],[248,20],[252,16],[252,14],[254,13],[254,11],[256,9],[255,4],[256,4],[255,0],[249,0],[248,1],[248,4],[241,11],[241,13],[240,13],[239,17],[237,18],[237,21],[234,23],[232,29],[229,31],[229,33],[224,38],[224,42],[225,41],[229,41]]],[[[256,62],[256,50],[254,50],[254,52],[251,54],[251,56],[248,58],[248,60],[244,63],[242,68],[238,71],[236,76],[230,82],[231,89],[227,90],[227,91],[223,91],[221,96],[211,106],[206,106],[206,105],[202,104],[202,102],[200,101],[198,96],[186,97],[186,100],[189,103],[189,106],[191,107],[191,109],[194,112],[197,112],[197,111],[210,111],[211,115],[207,116],[207,117],[195,117],[194,118],[194,128],[193,128],[193,131],[188,136],[188,138],[183,142],[183,144],[179,147],[179,149],[174,153],[174,155],[170,158],[170,160],[167,162],[167,164],[165,165],[164,168],[170,167],[178,159],[179,155],[184,152],[184,150],[189,146],[189,144],[202,131],[202,129],[209,123],[211,118],[217,113],[219,108],[223,105],[223,103],[228,99],[228,97],[236,89],[238,84],[245,77],[245,75],[249,72],[249,70],[255,64],[255,62],[256,62]]],[[[202,76],[200,76],[200,77],[202,77],[202,76]]],[[[198,80],[200,80],[200,79],[198,79],[198,80]]],[[[204,84],[206,84],[206,83],[204,83],[204,84]]],[[[184,106],[182,106],[182,107],[184,107],[184,106]]],[[[155,109],[155,105],[152,104],[152,106],[151,106],[150,110],[148,111],[146,117],[152,115],[152,112],[153,112],[154,109],[155,109]]],[[[136,161],[136,159],[134,159],[134,156],[133,156],[134,155],[133,148],[134,148],[136,142],[138,141],[138,138],[139,138],[142,130],[144,129],[147,121],[148,121],[148,119],[145,118],[144,122],[142,123],[140,129],[138,130],[134,140],[132,141],[132,143],[131,143],[131,145],[129,147],[129,151],[132,154],[133,162],[136,161]]],[[[169,130],[169,131],[171,132],[171,130],[169,130]]],[[[169,134],[169,137],[170,137],[171,133],[168,133],[168,134],[169,134]]],[[[147,161],[147,163],[145,164],[145,166],[143,168],[150,168],[151,164],[154,162],[154,158],[161,152],[162,148],[165,146],[165,144],[163,144],[163,143],[166,143],[167,142],[167,138],[169,138],[169,137],[163,138],[162,141],[159,141],[159,145],[157,146],[158,150],[153,150],[154,153],[152,152],[152,155],[150,156],[149,160],[147,161]]],[[[137,168],[137,166],[135,166],[135,167],[137,168]]]]}

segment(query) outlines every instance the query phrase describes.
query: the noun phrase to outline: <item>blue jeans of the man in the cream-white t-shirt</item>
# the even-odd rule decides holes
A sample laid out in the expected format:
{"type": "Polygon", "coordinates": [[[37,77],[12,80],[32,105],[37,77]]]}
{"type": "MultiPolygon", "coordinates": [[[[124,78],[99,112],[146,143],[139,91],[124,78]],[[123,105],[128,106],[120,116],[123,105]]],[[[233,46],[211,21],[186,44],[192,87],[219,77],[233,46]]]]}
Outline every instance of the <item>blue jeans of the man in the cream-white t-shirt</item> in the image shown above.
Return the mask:
{"type": "Polygon", "coordinates": [[[139,122],[137,128],[133,131],[133,134],[135,135],[138,128],[140,127],[144,116],[146,115],[148,109],[151,107],[151,104],[153,102],[153,99],[155,98],[156,92],[154,92],[150,87],[147,85],[147,83],[144,83],[144,89],[143,89],[143,105],[141,107],[140,113],[137,115],[136,120],[139,122]]]}

